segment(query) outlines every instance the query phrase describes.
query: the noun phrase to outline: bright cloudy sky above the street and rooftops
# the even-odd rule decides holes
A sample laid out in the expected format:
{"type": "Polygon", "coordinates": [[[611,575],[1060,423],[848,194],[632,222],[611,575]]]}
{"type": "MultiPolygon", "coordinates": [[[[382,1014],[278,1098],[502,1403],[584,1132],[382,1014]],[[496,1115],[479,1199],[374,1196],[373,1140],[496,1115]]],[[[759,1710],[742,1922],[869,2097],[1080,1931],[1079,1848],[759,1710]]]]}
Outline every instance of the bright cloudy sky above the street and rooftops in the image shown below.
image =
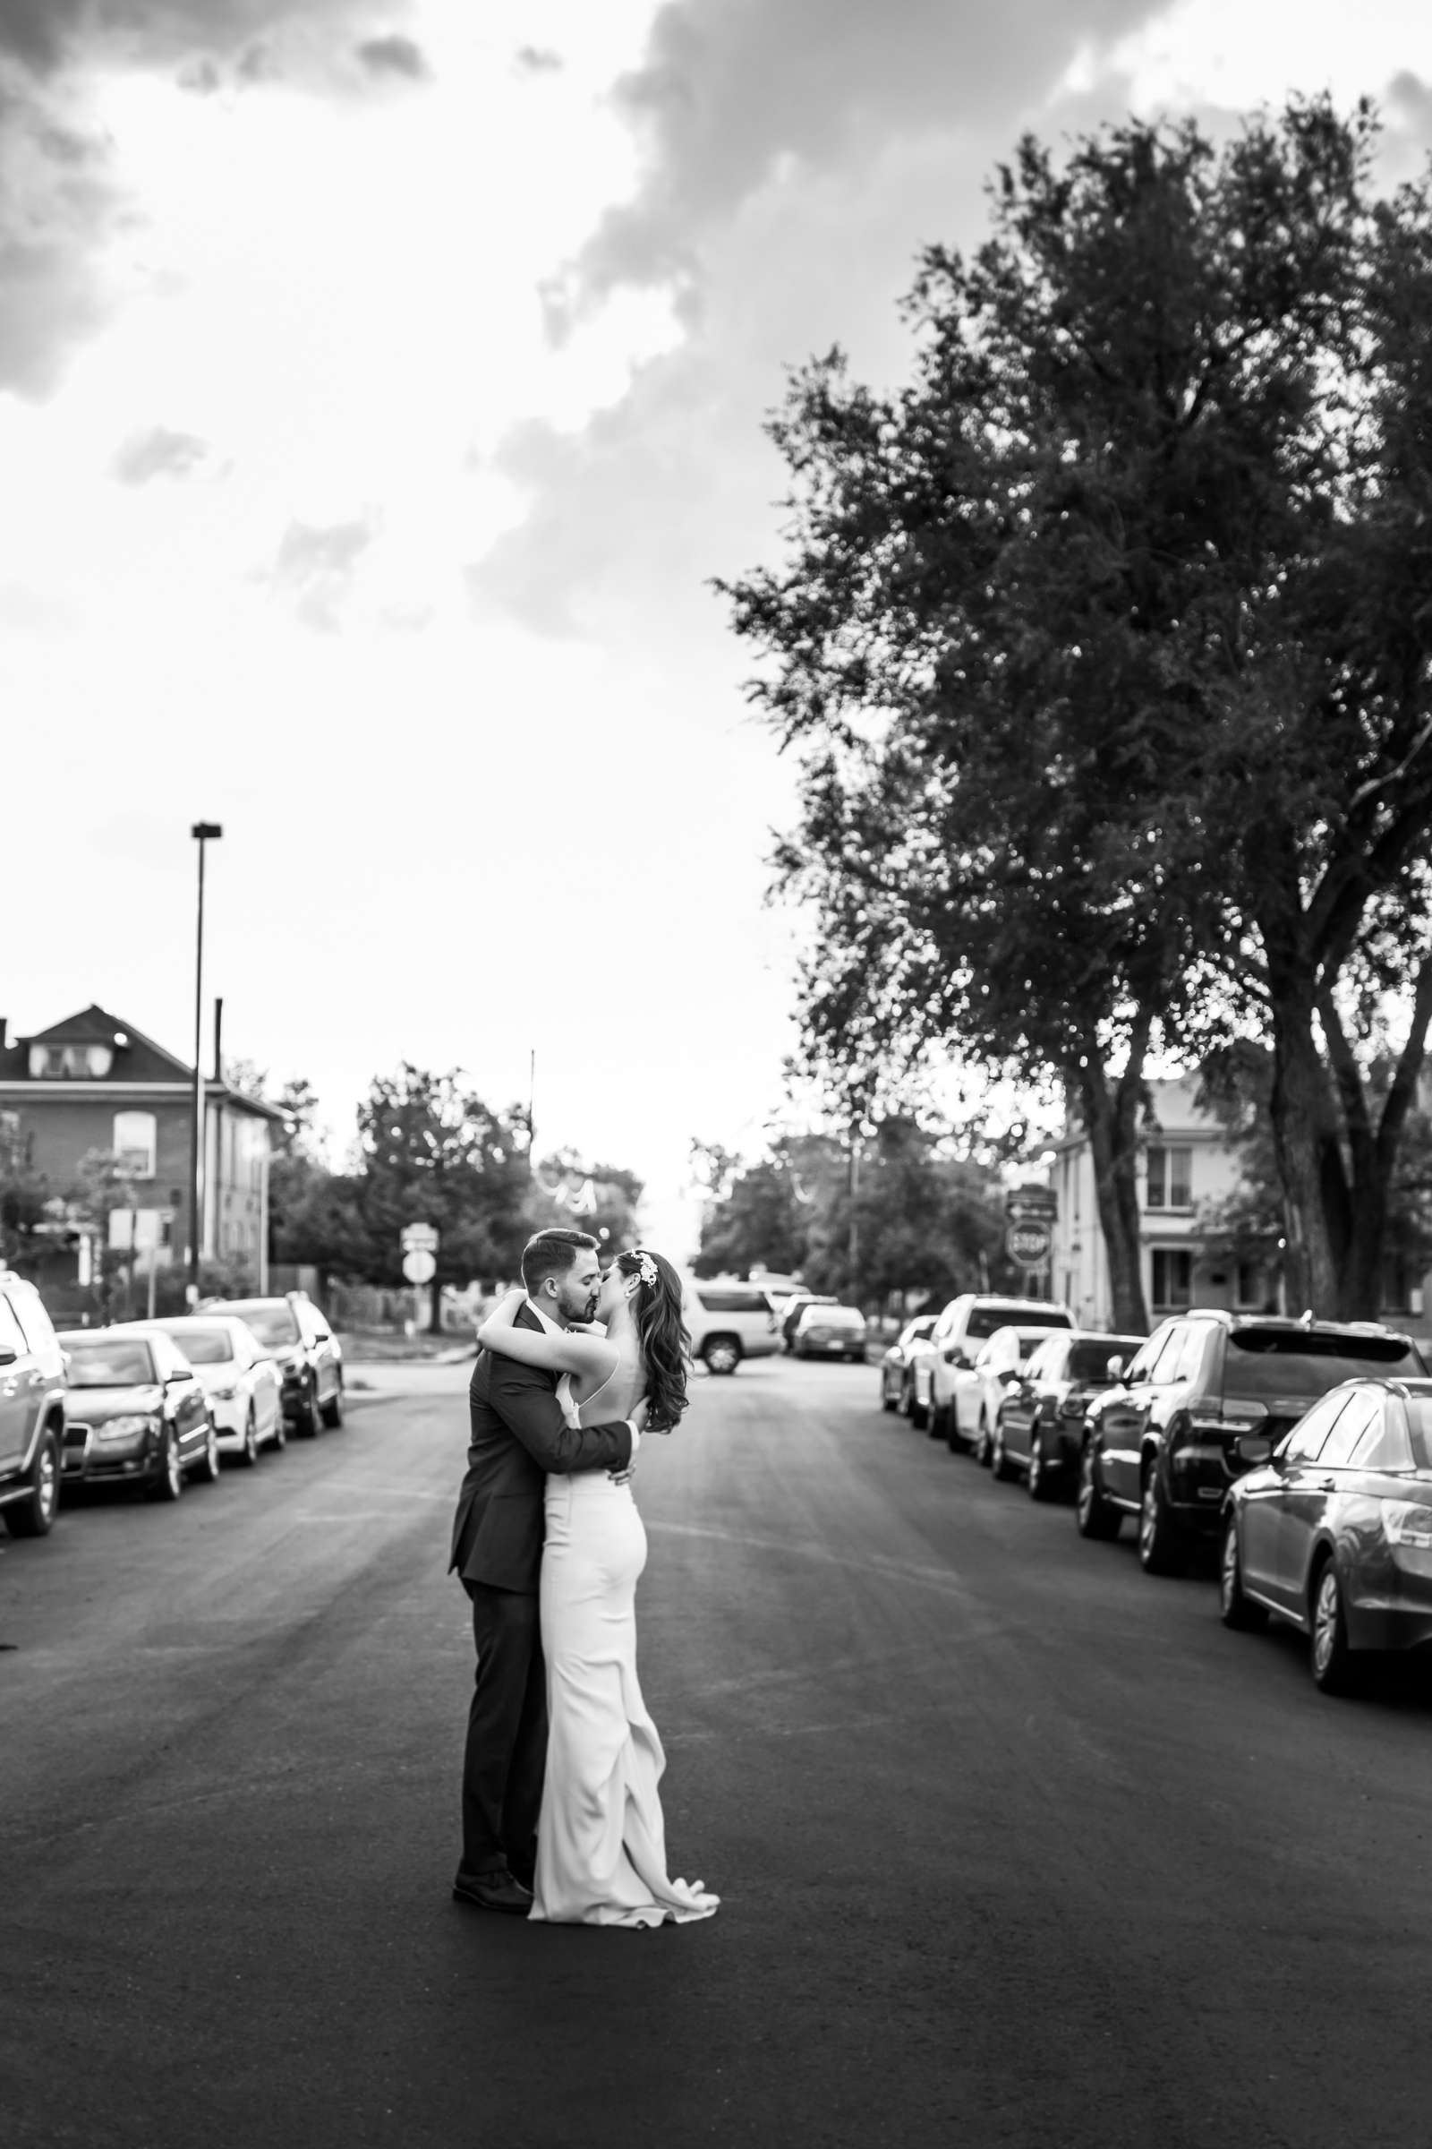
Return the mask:
{"type": "MultiPolygon", "coordinates": [[[[1372,92],[1413,0],[0,0],[11,1027],[191,1034],[337,1143],[537,1049],[539,1143],[760,1143],[790,774],[706,578],[771,557],[781,367],[904,365],[1020,131],[1372,92]]],[[[1222,116],[1222,118],[1219,118],[1222,116]]],[[[674,1251],[685,1251],[674,1246],[674,1251]]]]}

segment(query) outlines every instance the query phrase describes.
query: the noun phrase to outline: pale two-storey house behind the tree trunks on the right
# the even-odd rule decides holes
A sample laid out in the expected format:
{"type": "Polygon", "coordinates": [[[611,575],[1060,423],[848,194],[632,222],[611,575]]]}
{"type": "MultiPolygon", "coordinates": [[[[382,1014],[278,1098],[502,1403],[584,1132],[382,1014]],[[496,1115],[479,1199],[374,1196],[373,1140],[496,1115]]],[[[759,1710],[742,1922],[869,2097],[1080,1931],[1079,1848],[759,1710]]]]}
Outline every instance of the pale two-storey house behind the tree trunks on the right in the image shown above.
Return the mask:
{"type": "MultiPolygon", "coordinates": [[[[1144,1304],[1155,1322],[1183,1307],[1230,1307],[1237,1313],[1301,1313],[1284,1302],[1282,1264],[1232,1259],[1204,1244],[1200,1212],[1226,1201],[1239,1186],[1239,1152],[1215,1113],[1196,1102],[1198,1077],[1151,1081],[1151,1111],[1138,1158],[1140,1261],[1144,1304]]],[[[1082,1326],[1112,1326],[1108,1253],[1099,1229],[1088,1135],[1071,1122],[1054,1143],[1054,1296],[1082,1326]]],[[[1383,1319],[1419,1322],[1423,1279],[1389,1259],[1383,1281],[1383,1319]]]]}

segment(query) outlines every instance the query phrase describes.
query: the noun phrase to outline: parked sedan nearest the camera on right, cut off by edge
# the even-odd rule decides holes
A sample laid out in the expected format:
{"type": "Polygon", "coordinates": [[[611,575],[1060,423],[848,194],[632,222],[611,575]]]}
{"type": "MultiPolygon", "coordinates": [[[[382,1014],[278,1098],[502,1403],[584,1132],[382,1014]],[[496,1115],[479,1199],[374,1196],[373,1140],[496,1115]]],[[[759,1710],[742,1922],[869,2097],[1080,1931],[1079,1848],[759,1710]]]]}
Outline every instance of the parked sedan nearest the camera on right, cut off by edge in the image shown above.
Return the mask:
{"type": "Polygon", "coordinates": [[[1219,1612],[1299,1627],[1325,1693],[1432,1642],[1432,1380],[1344,1382],[1254,1461],[1224,1500],[1219,1612]]]}

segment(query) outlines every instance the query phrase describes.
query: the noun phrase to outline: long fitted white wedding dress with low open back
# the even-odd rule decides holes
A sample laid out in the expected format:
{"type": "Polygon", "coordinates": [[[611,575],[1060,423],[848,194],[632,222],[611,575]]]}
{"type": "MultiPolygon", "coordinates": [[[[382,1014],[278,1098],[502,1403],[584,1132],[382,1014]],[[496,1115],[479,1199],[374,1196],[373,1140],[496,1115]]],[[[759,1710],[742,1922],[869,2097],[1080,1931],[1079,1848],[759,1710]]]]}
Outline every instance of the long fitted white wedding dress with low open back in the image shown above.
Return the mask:
{"type": "MultiPolygon", "coordinates": [[[[605,1382],[597,1395],[603,1395],[605,1382]]],[[[558,1382],[578,1420],[571,1380],[558,1382]]],[[[582,1405],[593,1423],[597,1395],[582,1405]]],[[[711,1917],[719,1895],[666,1870],[666,1754],[635,1676],[635,1584],[646,1530],[605,1470],[547,1479],[541,1646],[547,1773],[530,1917],[556,1926],[666,1926],[711,1917]]]]}

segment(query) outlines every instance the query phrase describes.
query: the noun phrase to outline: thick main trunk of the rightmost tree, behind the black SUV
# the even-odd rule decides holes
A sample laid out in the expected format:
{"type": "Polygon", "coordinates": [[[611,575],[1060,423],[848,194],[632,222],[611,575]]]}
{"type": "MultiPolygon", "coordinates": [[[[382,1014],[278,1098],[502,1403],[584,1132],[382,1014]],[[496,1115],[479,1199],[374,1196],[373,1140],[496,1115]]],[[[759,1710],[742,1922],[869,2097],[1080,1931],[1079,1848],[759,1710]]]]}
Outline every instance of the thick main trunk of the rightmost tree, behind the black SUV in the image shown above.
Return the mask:
{"type": "Polygon", "coordinates": [[[1312,980],[1271,980],[1273,1154],[1288,1223],[1290,1309],[1325,1319],[1340,1313],[1340,1274],[1350,1236],[1348,1180],[1338,1139],[1338,1109],[1314,1040],[1312,980]]]}

